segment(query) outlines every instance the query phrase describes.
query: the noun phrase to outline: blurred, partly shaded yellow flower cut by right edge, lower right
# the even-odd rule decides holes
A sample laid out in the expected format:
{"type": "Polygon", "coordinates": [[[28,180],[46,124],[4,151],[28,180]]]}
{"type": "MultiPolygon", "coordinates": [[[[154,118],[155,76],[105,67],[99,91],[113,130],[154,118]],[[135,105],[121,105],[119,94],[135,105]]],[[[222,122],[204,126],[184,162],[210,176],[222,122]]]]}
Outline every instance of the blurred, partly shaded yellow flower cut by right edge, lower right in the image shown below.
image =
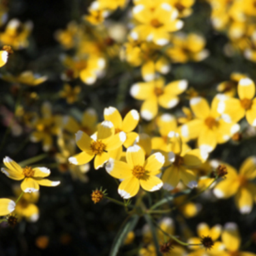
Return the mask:
{"type": "Polygon", "coordinates": [[[256,198],[256,185],[250,182],[256,177],[256,158],[246,158],[239,172],[226,163],[224,165],[227,167],[226,179],[216,185],[214,195],[223,199],[235,195],[236,207],[240,213],[250,213],[256,198]]]}

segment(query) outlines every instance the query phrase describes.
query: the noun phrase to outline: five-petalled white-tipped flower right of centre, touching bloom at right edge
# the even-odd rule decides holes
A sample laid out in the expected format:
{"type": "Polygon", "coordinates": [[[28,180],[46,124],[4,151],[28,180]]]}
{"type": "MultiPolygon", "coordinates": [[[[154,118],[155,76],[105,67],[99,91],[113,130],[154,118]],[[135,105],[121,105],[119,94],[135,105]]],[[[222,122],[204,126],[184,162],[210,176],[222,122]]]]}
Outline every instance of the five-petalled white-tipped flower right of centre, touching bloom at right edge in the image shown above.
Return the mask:
{"type": "Polygon", "coordinates": [[[180,133],[184,139],[196,139],[201,150],[212,152],[217,143],[225,143],[236,133],[240,126],[235,123],[228,124],[221,119],[218,113],[218,104],[222,96],[216,96],[212,100],[212,107],[202,97],[190,100],[190,107],[195,114],[195,119],[180,127],[180,133]]]}

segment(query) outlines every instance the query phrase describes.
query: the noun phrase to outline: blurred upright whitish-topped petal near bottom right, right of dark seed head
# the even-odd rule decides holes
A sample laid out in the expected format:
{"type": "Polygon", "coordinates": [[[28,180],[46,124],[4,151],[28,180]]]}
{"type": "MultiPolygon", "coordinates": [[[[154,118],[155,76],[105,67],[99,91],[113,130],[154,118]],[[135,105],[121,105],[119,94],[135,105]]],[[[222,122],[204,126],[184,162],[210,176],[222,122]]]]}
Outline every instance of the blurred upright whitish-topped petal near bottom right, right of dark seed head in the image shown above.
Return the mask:
{"type": "Polygon", "coordinates": [[[228,251],[238,251],[241,238],[236,223],[226,223],[221,238],[228,251]]]}

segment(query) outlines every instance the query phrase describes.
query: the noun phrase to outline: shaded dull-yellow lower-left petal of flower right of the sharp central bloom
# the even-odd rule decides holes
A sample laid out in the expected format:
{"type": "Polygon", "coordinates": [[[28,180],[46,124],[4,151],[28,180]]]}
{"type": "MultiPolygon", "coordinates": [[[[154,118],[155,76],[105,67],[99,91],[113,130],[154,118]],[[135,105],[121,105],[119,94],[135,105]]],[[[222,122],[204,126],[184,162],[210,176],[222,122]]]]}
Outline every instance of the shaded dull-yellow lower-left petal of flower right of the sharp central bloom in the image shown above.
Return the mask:
{"type": "Polygon", "coordinates": [[[162,182],[164,182],[164,188],[167,190],[173,190],[177,184],[180,182],[180,172],[179,169],[172,165],[167,168],[162,175],[162,182]]]}

